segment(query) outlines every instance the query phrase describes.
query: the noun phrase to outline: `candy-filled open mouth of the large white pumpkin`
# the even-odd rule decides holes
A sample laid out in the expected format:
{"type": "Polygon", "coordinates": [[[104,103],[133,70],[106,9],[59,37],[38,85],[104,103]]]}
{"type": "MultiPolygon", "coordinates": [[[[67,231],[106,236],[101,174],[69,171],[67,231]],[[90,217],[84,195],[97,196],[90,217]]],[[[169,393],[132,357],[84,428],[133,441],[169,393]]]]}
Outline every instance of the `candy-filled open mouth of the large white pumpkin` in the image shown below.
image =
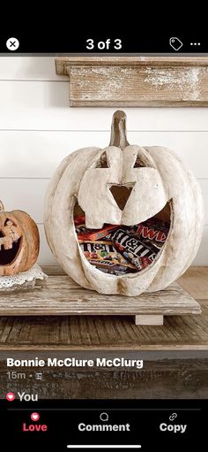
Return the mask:
{"type": "Polygon", "coordinates": [[[115,276],[144,271],[161,256],[171,228],[171,201],[142,223],[132,226],[104,224],[101,229],[85,226],[85,212],[78,203],[74,226],[79,248],[88,264],[115,276]]]}

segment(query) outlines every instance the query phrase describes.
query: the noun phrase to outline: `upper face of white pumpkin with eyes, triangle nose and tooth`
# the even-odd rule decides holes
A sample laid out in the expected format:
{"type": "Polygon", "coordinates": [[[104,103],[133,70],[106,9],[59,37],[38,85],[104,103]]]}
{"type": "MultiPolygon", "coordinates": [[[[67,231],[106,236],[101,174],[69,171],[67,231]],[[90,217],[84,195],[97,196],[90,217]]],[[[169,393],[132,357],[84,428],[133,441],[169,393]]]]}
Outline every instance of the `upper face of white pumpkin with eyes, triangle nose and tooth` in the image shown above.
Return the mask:
{"type": "Polygon", "coordinates": [[[161,211],[167,201],[160,172],[138,146],[108,147],[86,170],[78,190],[89,228],[99,229],[104,223],[137,225],[161,211]],[[97,167],[103,157],[108,167],[97,167]]]}

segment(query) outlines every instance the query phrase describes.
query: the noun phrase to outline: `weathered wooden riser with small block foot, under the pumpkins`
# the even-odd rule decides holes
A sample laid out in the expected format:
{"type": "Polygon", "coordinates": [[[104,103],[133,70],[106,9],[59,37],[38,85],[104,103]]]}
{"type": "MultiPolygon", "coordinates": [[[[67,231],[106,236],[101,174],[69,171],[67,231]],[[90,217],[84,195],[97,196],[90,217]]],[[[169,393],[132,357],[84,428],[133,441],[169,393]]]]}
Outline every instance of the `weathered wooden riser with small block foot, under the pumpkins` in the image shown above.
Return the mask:
{"type": "Polygon", "coordinates": [[[101,295],[68,276],[49,276],[45,286],[0,298],[0,316],[135,316],[136,325],[163,325],[164,316],[200,314],[201,308],[174,283],[136,297],[101,295]]]}

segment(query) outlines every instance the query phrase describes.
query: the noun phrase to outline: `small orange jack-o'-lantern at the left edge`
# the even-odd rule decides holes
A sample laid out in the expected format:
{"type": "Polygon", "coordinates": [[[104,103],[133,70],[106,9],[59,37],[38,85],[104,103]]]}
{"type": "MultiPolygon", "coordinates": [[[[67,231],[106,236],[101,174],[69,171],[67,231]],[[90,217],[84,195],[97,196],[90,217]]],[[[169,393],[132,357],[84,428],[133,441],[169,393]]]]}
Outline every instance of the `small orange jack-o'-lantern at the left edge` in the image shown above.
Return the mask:
{"type": "Polygon", "coordinates": [[[0,202],[0,275],[29,270],[39,253],[39,233],[23,211],[4,211],[0,202]]]}

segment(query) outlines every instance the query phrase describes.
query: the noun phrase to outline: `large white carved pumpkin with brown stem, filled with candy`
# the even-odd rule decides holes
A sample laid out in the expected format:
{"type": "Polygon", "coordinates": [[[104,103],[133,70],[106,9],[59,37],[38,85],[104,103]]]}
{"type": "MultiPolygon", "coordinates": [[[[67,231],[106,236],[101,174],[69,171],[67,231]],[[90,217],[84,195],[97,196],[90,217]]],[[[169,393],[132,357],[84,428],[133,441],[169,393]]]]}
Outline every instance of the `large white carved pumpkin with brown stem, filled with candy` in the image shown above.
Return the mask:
{"type": "Polygon", "coordinates": [[[201,241],[204,209],[197,180],[182,160],[159,146],[129,145],[125,120],[123,111],[115,112],[108,148],[78,149],[59,165],[48,187],[44,223],[57,261],[78,284],[103,294],[139,295],[167,287],[186,271],[201,241]],[[167,241],[141,272],[100,272],[78,244],[73,216],[80,208],[89,228],[137,225],[156,215],[170,222],[167,241]]]}

